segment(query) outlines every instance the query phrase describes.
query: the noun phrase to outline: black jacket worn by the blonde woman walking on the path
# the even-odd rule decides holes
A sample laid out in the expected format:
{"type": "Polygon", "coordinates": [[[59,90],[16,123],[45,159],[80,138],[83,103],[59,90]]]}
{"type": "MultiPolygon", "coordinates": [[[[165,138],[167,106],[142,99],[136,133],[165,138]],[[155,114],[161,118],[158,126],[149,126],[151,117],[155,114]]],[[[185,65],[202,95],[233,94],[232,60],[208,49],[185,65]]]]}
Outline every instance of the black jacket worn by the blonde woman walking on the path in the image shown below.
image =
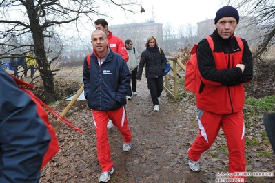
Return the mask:
{"type": "Polygon", "coordinates": [[[151,52],[144,50],[141,53],[141,61],[139,62],[139,70],[136,79],[141,79],[143,67],[146,63],[145,76],[146,78],[158,78],[163,76],[166,67],[166,58],[163,50],[151,52]]]}

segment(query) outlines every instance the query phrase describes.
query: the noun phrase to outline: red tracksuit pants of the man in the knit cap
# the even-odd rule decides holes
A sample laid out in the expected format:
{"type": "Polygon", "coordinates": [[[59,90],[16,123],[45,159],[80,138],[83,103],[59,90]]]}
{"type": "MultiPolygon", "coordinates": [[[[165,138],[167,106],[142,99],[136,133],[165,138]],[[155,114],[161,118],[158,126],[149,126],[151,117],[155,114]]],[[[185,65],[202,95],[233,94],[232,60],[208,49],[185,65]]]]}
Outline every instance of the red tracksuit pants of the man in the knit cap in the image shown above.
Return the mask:
{"type": "Polygon", "coordinates": [[[245,172],[245,125],[243,111],[234,114],[214,114],[197,109],[199,135],[188,151],[193,161],[198,161],[201,154],[213,144],[220,128],[225,133],[228,147],[230,173],[245,172]]]}

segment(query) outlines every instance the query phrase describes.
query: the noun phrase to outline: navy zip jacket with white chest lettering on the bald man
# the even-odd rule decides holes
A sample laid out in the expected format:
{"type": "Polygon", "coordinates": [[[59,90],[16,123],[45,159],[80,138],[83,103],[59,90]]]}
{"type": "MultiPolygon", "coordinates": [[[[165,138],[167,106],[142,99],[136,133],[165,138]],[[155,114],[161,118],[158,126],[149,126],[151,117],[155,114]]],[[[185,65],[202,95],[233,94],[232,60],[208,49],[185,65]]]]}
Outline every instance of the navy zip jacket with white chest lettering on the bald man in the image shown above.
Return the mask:
{"type": "Polygon", "coordinates": [[[108,47],[105,61],[99,66],[98,58],[90,56],[83,64],[83,82],[88,106],[98,111],[114,111],[126,104],[131,73],[123,58],[108,47]]]}

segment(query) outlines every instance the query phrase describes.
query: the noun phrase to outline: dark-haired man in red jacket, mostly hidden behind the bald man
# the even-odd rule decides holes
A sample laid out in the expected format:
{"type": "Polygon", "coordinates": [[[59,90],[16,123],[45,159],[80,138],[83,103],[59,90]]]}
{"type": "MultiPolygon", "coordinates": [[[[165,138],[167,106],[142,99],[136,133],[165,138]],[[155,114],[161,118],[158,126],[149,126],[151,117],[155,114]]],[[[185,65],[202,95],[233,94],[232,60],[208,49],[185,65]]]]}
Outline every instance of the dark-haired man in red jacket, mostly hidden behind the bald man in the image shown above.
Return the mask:
{"type": "MultiPolygon", "coordinates": [[[[108,47],[112,49],[113,52],[116,52],[122,56],[125,62],[128,61],[129,56],[126,51],[125,44],[122,39],[117,36],[114,36],[110,30],[108,30],[108,22],[105,19],[97,19],[94,21],[94,27],[96,30],[102,30],[105,32],[108,38],[108,47]]],[[[107,127],[108,129],[112,128],[114,125],[112,124],[112,120],[109,120],[107,127]]]]}

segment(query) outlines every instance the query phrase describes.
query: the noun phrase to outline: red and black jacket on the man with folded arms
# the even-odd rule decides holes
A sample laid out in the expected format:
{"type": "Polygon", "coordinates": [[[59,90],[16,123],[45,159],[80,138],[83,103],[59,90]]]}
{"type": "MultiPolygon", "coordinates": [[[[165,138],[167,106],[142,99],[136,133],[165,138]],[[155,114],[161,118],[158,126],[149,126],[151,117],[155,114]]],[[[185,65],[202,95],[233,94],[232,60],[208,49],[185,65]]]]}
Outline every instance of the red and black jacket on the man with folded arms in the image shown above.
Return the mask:
{"type": "Polygon", "coordinates": [[[243,109],[243,84],[253,78],[252,53],[244,39],[242,51],[234,36],[222,39],[216,30],[211,36],[213,52],[206,39],[198,43],[196,105],[204,111],[231,114],[243,109]],[[243,73],[236,68],[238,63],[245,65],[243,73]]]}

